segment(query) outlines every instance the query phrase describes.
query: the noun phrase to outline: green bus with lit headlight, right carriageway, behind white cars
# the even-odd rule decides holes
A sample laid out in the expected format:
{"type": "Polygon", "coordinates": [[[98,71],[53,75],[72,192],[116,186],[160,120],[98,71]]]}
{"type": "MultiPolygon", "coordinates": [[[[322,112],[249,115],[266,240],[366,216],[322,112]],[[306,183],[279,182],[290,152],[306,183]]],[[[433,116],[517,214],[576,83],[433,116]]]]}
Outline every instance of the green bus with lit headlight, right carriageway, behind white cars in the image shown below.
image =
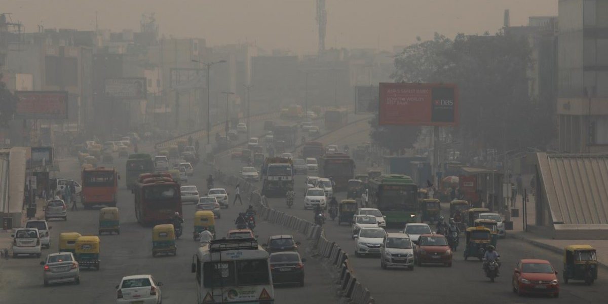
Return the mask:
{"type": "Polygon", "coordinates": [[[388,174],[368,181],[368,206],[386,216],[387,226],[416,223],[418,186],[407,175],[388,174]]]}

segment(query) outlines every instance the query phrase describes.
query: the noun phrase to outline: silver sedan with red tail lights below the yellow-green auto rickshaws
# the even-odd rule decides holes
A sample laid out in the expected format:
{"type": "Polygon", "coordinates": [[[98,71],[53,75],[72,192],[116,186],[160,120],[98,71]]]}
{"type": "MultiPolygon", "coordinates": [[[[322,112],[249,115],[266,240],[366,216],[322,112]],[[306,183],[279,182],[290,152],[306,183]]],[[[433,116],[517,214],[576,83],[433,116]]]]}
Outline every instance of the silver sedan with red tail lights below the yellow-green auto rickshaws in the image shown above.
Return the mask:
{"type": "Polygon", "coordinates": [[[44,266],[44,286],[65,282],[80,284],[80,267],[72,252],[49,254],[40,264],[44,266]]]}

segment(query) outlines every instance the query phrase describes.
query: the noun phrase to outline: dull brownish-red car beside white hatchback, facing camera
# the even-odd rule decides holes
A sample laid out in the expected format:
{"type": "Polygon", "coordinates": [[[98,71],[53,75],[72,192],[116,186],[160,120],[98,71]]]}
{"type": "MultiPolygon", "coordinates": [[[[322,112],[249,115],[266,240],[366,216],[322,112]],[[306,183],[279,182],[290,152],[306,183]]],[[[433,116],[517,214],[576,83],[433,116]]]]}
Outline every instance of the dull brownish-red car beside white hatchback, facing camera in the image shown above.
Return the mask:
{"type": "Polygon", "coordinates": [[[452,250],[447,245],[446,237],[440,234],[423,234],[418,238],[414,249],[416,264],[444,264],[452,267],[452,250]]]}

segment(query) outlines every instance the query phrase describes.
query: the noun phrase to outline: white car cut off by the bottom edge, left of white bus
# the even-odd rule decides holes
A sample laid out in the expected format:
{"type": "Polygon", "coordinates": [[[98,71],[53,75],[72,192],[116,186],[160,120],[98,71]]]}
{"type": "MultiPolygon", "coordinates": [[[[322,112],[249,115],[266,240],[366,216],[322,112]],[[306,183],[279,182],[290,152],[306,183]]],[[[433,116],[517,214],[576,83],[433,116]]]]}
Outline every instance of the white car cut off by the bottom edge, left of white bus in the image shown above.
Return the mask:
{"type": "Polygon", "coordinates": [[[129,275],[116,285],[117,304],[161,304],[161,282],[149,274],[129,275]]]}

